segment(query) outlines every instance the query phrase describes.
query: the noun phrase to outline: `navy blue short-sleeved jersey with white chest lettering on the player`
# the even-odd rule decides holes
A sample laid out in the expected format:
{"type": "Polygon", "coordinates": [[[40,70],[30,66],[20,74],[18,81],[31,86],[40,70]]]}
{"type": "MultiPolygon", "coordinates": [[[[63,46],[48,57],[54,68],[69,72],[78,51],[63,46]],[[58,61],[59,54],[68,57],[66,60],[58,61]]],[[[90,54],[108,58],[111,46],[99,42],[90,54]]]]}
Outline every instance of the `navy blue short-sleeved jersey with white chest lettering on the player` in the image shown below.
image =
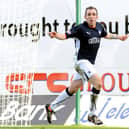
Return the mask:
{"type": "Polygon", "coordinates": [[[95,63],[100,40],[107,35],[107,31],[100,23],[95,28],[90,28],[87,22],[74,26],[66,33],[66,38],[77,38],[75,47],[78,47],[77,60],[87,59],[95,63]]]}

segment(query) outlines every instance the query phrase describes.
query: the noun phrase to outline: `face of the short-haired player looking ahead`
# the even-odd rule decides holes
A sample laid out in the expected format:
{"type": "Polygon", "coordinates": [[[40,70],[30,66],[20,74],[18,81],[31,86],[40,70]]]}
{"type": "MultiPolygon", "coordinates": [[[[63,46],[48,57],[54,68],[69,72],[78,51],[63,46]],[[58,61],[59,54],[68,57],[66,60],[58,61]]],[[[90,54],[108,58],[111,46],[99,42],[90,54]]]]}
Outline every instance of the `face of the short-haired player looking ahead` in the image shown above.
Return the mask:
{"type": "Polygon", "coordinates": [[[90,27],[96,26],[96,20],[98,19],[98,15],[95,9],[88,9],[85,15],[85,19],[90,27]]]}

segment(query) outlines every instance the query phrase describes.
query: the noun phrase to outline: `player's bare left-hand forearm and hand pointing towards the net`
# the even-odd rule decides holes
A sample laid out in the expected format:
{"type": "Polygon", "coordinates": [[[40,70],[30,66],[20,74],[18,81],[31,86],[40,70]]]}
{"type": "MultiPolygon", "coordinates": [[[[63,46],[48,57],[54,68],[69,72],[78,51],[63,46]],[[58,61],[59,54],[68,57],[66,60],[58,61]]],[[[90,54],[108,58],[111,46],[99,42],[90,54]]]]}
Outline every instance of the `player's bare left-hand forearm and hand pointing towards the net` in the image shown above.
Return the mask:
{"type": "Polygon", "coordinates": [[[65,40],[66,39],[66,35],[63,34],[63,33],[57,33],[57,32],[49,32],[48,35],[51,37],[51,38],[56,38],[56,39],[59,39],[59,40],[65,40]]]}

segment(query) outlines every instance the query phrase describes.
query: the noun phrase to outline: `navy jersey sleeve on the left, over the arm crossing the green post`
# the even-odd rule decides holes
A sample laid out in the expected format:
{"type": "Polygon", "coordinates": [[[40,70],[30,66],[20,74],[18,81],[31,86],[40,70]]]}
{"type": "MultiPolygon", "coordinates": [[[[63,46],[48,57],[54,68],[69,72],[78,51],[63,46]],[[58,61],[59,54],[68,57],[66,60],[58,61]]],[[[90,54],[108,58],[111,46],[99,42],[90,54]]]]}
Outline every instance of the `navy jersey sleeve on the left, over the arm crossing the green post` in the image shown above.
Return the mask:
{"type": "Polygon", "coordinates": [[[71,30],[65,33],[66,38],[79,38],[80,36],[80,27],[74,26],[71,30]]]}

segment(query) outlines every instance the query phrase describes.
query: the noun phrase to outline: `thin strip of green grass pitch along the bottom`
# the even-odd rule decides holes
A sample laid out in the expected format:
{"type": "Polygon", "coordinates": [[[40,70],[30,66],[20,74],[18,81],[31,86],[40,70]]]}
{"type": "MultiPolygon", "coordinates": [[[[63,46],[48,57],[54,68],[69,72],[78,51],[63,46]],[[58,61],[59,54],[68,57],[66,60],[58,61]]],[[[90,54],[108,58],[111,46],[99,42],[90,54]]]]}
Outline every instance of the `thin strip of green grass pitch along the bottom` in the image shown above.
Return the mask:
{"type": "Polygon", "coordinates": [[[129,127],[83,126],[83,125],[40,125],[32,127],[0,127],[0,129],[129,129],[129,127]]]}

